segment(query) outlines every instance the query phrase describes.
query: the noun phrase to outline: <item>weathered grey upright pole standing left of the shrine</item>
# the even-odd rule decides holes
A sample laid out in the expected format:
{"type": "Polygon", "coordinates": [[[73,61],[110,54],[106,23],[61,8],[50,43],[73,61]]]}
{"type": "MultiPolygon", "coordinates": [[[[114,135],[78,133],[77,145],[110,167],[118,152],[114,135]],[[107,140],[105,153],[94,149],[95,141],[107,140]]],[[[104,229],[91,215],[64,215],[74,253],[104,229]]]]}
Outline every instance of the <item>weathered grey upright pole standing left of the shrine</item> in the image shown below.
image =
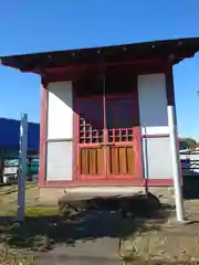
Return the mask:
{"type": "Polygon", "coordinates": [[[27,180],[27,149],[28,149],[28,115],[21,115],[20,150],[19,150],[19,179],[18,179],[18,215],[17,221],[24,220],[25,210],[25,180],[27,180]]]}

